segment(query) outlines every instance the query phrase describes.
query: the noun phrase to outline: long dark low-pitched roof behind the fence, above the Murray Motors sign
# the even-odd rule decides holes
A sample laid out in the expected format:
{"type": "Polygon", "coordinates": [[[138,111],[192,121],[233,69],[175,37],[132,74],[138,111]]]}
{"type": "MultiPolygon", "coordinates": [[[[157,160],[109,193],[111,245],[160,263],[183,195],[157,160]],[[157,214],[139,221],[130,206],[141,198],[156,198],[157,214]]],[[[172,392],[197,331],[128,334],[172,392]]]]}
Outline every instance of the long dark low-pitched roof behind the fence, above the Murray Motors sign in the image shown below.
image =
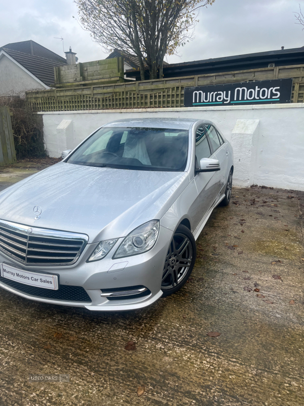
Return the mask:
{"type": "MultiPolygon", "coordinates": [[[[304,47],[164,64],[164,78],[259,69],[268,67],[269,63],[275,66],[302,64],[304,47]]],[[[126,71],[126,76],[139,77],[132,70],[126,71]]]]}

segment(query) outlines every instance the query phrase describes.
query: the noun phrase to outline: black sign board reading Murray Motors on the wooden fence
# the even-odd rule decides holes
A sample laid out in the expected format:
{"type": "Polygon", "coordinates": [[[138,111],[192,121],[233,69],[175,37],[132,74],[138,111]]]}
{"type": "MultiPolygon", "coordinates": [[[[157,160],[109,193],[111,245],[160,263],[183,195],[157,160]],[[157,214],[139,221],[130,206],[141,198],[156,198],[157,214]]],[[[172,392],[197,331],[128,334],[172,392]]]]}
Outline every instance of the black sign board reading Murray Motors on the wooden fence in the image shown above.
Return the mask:
{"type": "Polygon", "coordinates": [[[290,103],[292,79],[185,87],[184,107],[290,103]]]}

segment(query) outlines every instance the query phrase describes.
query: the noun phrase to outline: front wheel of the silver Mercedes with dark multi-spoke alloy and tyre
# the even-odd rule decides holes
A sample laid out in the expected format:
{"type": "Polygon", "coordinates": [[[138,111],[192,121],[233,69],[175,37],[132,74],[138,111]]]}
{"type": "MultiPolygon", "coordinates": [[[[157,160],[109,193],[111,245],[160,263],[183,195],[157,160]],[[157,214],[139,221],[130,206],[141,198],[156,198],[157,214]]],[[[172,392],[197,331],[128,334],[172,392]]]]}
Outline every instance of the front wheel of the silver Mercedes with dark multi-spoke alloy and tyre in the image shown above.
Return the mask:
{"type": "Polygon", "coordinates": [[[163,297],[180,289],[192,273],[196,260],[196,244],[192,232],[179,225],[171,240],[166,256],[162,291],[163,297]]]}

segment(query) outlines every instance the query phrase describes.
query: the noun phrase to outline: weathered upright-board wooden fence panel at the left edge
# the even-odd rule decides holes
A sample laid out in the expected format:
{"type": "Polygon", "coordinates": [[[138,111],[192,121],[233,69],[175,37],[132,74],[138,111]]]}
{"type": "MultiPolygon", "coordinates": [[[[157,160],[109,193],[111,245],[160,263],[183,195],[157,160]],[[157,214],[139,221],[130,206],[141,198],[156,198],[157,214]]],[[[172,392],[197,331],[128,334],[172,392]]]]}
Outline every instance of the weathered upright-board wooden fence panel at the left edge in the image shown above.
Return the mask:
{"type": "Polygon", "coordinates": [[[10,109],[0,106],[0,165],[16,162],[10,109]]]}

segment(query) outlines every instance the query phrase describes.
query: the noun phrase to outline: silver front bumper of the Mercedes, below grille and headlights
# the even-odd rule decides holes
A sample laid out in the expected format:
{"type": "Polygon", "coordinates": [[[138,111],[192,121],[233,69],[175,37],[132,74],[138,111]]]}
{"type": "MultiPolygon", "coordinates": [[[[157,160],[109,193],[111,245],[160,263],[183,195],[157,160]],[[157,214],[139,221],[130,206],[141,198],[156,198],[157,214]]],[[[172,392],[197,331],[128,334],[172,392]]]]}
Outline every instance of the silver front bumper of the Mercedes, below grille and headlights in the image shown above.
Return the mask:
{"type": "Polygon", "coordinates": [[[82,307],[93,311],[140,309],[149,306],[162,296],[161,280],[171,238],[172,231],[160,226],[158,241],[153,249],[140,255],[112,259],[123,240],[119,239],[106,257],[96,262],[86,262],[86,260],[98,243],[88,244],[79,260],[70,266],[25,266],[0,252],[0,262],[29,272],[58,275],[59,289],[57,292],[59,294],[55,295],[56,298],[46,297],[48,292],[45,291],[49,291],[49,289],[43,289],[43,294],[40,295],[33,293],[33,289],[23,289],[23,286],[28,285],[9,284],[5,278],[1,278],[0,287],[27,299],[62,306],[82,307]],[[143,288],[145,289],[143,290],[143,288]],[[84,292],[83,295],[76,294],[81,290],[84,292]],[[121,292],[122,290],[128,291],[130,296],[110,295],[111,292],[121,292]],[[140,294],[130,292],[130,290],[139,290],[140,294]],[[71,291],[74,294],[71,295],[71,291]],[[69,294],[65,292],[69,292],[69,294]],[[86,299],[82,299],[85,296],[86,299]]]}

